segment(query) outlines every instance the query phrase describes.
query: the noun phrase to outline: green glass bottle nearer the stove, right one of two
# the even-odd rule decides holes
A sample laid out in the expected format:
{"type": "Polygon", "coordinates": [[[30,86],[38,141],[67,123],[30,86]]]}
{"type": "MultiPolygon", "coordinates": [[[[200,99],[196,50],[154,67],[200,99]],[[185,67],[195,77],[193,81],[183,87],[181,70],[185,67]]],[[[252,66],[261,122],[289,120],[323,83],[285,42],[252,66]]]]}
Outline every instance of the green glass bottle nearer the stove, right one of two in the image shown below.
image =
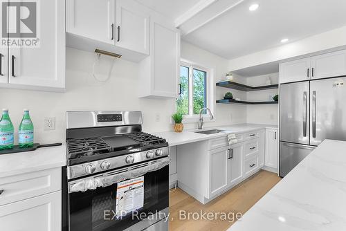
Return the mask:
{"type": "Polygon", "coordinates": [[[33,147],[34,145],[34,124],[30,119],[28,109],[24,109],[23,119],[19,124],[18,145],[19,147],[33,147]]]}

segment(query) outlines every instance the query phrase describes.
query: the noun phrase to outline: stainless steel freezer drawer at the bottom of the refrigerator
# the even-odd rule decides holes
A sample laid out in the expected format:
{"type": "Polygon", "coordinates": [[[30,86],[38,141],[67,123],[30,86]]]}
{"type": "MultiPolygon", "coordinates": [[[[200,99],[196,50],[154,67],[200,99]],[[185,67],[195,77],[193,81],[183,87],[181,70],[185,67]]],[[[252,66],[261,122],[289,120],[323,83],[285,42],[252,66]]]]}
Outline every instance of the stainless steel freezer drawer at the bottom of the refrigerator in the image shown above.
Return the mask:
{"type": "Polygon", "coordinates": [[[313,149],[315,147],[280,142],[280,176],[284,177],[291,172],[313,149]]]}

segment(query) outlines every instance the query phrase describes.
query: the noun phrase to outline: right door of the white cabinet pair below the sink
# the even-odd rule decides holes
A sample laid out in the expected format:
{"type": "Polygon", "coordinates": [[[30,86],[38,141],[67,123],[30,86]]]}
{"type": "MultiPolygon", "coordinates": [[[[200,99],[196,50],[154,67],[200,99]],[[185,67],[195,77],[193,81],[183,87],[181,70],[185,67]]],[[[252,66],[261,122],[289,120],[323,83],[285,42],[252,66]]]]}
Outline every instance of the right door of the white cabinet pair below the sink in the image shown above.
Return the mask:
{"type": "Polygon", "coordinates": [[[243,178],[244,145],[230,146],[228,154],[228,186],[233,185],[243,178]]]}

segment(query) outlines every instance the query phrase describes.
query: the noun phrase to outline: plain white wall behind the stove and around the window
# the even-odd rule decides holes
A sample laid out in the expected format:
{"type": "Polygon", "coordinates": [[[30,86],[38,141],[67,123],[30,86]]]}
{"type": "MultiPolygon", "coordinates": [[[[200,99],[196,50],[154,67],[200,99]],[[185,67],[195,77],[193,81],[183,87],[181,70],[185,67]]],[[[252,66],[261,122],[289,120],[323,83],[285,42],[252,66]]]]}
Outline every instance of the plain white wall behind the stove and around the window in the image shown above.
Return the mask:
{"type": "MultiPolygon", "coordinates": [[[[223,77],[228,69],[228,60],[184,42],[181,56],[215,68],[217,80],[223,77]]],[[[16,131],[21,121],[22,109],[30,109],[35,126],[35,142],[40,143],[64,141],[65,113],[75,110],[139,110],[143,111],[144,131],[172,130],[170,116],[175,111],[175,100],[138,98],[138,64],[123,59],[113,61],[109,57],[101,56],[100,65],[95,66],[98,77],[105,79],[113,64],[110,79],[101,83],[91,74],[96,59],[94,53],[67,48],[66,93],[0,89],[0,108],[10,110],[10,118],[16,131]],[[160,121],[156,121],[156,115],[160,121]],[[56,118],[55,130],[44,131],[44,117],[56,118]]],[[[223,91],[225,90],[217,89],[217,98],[221,97],[223,91]]],[[[215,118],[216,122],[206,122],[205,127],[246,122],[246,107],[217,105],[215,118]]],[[[195,123],[185,124],[186,129],[194,127],[195,123]]]]}

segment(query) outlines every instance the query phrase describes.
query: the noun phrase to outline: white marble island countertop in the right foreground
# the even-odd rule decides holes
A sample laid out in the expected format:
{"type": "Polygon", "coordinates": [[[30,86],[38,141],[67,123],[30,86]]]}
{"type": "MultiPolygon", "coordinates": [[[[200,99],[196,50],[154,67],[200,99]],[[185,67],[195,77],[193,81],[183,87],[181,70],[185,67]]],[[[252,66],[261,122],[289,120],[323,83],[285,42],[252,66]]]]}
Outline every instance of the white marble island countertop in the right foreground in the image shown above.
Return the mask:
{"type": "Polygon", "coordinates": [[[229,230],[346,230],[345,150],[322,142],[229,230]]]}

